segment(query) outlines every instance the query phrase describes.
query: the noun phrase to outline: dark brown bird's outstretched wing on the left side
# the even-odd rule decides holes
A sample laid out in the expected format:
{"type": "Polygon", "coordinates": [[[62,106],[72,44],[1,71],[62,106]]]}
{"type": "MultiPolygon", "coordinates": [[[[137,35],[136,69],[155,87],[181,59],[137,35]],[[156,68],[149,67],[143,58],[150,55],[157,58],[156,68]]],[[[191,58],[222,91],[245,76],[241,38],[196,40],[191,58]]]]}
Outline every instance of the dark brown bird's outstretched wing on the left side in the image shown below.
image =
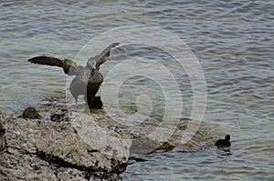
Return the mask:
{"type": "Polygon", "coordinates": [[[60,60],[51,56],[36,56],[30,58],[28,62],[40,65],[59,66],[64,69],[64,73],[67,75],[79,75],[83,69],[82,66],[78,66],[75,62],[71,60],[60,60]]]}

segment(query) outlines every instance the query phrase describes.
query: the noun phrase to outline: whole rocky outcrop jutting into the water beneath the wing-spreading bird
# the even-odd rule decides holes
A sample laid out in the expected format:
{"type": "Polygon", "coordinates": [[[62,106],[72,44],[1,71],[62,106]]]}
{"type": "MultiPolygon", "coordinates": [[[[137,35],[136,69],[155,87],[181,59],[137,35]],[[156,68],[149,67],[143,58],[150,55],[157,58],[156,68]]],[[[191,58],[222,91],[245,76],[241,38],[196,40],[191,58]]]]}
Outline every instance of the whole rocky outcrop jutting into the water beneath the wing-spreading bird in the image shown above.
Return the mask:
{"type": "MultiPolygon", "coordinates": [[[[37,105],[42,119],[0,116],[0,180],[121,180],[130,153],[202,146],[199,130],[182,143],[189,120],[163,125],[151,117],[136,125],[104,109],[67,106],[60,99],[37,105]],[[166,136],[168,136],[166,138],[166,136]]],[[[137,155],[136,155],[137,154],[137,155]]]]}

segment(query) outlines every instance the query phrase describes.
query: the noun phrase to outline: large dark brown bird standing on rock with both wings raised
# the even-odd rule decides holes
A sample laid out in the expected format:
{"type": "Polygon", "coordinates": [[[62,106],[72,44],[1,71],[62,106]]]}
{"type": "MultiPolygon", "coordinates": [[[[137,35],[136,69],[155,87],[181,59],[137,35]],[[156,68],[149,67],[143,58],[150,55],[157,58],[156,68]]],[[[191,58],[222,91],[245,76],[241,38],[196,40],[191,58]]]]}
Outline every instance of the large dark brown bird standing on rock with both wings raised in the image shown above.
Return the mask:
{"type": "MultiPolygon", "coordinates": [[[[30,63],[40,65],[52,65],[62,67],[67,75],[76,75],[69,85],[69,91],[75,99],[77,105],[78,96],[84,95],[87,104],[95,99],[103,76],[100,74],[100,65],[109,58],[111,49],[119,43],[113,43],[106,47],[100,55],[90,57],[86,66],[77,65],[75,62],[64,59],[60,60],[51,56],[37,56],[28,60],[30,63]]],[[[89,104],[88,104],[89,105],[89,104]]]]}

